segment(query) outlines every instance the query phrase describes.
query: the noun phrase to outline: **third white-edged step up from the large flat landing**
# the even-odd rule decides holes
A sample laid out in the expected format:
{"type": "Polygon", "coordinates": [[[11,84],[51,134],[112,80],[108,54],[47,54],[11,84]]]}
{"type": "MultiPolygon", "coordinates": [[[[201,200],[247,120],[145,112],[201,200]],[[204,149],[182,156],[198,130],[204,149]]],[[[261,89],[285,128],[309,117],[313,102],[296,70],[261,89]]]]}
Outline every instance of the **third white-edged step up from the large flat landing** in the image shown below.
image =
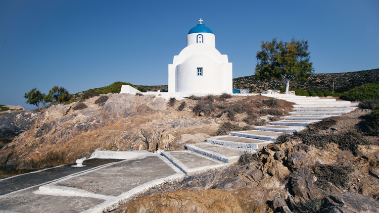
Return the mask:
{"type": "Polygon", "coordinates": [[[243,148],[250,151],[261,149],[264,146],[267,146],[268,144],[272,143],[272,141],[268,140],[258,140],[229,135],[211,137],[206,139],[206,141],[208,143],[220,144],[223,146],[230,146],[234,148],[243,148]]]}

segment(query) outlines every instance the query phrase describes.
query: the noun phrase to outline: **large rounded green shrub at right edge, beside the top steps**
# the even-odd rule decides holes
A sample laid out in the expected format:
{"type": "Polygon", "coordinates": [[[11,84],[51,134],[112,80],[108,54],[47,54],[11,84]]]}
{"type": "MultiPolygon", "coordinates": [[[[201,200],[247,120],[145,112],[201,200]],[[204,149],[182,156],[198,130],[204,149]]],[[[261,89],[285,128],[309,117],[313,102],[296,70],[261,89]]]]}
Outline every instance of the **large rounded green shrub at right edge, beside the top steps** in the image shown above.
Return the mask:
{"type": "Polygon", "coordinates": [[[366,84],[355,87],[354,89],[345,92],[341,98],[350,101],[379,99],[379,84],[366,84]]]}

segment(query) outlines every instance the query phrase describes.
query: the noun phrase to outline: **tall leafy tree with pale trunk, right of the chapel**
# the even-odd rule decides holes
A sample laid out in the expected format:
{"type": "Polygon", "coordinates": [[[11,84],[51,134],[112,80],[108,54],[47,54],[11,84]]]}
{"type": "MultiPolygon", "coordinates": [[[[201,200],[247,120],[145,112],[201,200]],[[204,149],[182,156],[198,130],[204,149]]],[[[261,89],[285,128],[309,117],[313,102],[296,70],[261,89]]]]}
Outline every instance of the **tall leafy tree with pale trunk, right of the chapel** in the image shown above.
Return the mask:
{"type": "Polygon", "coordinates": [[[291,42],[276,41],[261,42],[261,51],[257,51],[258,64],[255,77],[263,79],[284,79],[286,92],[292,79],[307,80],[313,73],[312,62],[309,62],[308,41],[295,40],[291,42]]]}

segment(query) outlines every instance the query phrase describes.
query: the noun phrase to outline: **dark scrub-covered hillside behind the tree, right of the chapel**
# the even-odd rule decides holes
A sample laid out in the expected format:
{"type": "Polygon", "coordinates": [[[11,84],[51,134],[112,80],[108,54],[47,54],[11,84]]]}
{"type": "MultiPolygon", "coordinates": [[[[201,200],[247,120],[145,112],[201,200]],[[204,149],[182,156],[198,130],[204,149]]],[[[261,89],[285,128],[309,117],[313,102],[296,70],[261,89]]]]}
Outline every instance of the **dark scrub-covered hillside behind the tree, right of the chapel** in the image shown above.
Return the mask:
{"type": "MultiPolygon", "coordinates": [[[[291,88],[297,89],[320,89],[332,90],[334,82],[334,91],[343,93],[357,86],[370,83],[379,83],[379,69],[364,70],[348,73],[324,73],[312,74],[308,81],[300,82],[292,80],[291,88]]],[[[285,83],[281,81],[258,81],[254,75],[233,79],[233,88],[250,89],[250,92],[262,92],[267,89],[285,88],[285,83]]]]}

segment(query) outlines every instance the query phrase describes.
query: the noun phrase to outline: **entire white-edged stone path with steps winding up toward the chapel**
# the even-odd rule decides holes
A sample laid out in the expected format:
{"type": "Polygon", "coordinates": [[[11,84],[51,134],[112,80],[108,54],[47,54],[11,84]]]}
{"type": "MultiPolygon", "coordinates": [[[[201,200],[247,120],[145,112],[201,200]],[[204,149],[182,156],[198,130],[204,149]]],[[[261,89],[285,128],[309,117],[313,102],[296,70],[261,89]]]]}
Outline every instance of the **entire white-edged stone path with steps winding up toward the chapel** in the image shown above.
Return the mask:
{"type": "Polygon", "coordinates": [[[97,158],[115,158],[102,163],[84,161],[86,167],[63,165],[0,180],[0,213],[10,212],[103,212],[120,201],[185,175],[222,168],[238,160],[244,151],[255,151],[283,133],[293,133],[308,124],[353,111],[357,104],[336,99],[295,95],[266,96],[294,102],[291,116],[257,126],[256,130],[231,132],[231,136],[208,138],[187,144],[187,150],[97,151],[97,158]]]}

